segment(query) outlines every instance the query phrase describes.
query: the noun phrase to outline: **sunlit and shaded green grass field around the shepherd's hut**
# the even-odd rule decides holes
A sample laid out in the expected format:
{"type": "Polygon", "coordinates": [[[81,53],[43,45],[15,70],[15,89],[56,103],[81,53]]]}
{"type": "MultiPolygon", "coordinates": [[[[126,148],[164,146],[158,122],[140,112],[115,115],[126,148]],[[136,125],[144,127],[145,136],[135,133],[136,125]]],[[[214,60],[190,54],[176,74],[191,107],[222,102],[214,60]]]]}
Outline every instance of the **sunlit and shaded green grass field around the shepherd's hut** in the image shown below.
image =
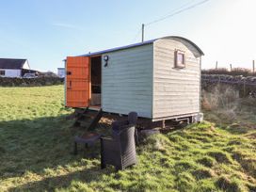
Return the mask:
{"type": "Polygon", "coordinates": [[[150,136],[136,167],[116,172],[100,169],[99,145],[71,154],[61,86],[0,88],[0,99],[0,191],[256,191],[255,106],[247,120],[206,112],[213,122],[150,136]]]}

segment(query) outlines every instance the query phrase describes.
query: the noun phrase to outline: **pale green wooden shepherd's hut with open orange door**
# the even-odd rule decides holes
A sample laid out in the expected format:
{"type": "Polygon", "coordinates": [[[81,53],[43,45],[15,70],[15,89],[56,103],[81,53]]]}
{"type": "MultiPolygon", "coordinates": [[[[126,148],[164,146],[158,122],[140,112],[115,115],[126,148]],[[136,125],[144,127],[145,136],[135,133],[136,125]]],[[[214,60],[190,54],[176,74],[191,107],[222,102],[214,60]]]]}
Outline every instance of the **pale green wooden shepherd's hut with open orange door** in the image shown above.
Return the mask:
{"type": "Polygon", "coordinates": [[[66,106],[200,120],[200,48],[169,36],[66,59],[66,106]]]}

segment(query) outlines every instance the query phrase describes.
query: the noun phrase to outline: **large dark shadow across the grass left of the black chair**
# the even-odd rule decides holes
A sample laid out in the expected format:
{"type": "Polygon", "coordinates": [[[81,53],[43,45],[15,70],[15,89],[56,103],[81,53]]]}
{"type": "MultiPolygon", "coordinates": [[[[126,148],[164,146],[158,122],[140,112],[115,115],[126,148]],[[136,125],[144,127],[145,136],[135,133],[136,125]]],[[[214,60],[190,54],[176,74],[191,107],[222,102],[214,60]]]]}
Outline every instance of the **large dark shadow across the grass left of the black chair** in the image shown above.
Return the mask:
{"type": "MultiPolygon", "coordinates": [[[[0,121],[0,178],[3,181],[23,178],[28,172],[44,175],[47,168],[65,168],[88,158],[88,152],[86,156],[84,152],[72,154],[73,136],[79,134],[79,131],[71,129],[72,123],[67,116],[0,121]]],[[[104,129],[107,129],[104,122],[96,127],[97,132],[107,132],[104,129]]],[[[99,160],[99,144],[95,151],[99,160]]],[[[72,178],[68,175],[60,177],[72,178]]],[[[42,183],[49,181],[51,178],[42,183]]]]}

